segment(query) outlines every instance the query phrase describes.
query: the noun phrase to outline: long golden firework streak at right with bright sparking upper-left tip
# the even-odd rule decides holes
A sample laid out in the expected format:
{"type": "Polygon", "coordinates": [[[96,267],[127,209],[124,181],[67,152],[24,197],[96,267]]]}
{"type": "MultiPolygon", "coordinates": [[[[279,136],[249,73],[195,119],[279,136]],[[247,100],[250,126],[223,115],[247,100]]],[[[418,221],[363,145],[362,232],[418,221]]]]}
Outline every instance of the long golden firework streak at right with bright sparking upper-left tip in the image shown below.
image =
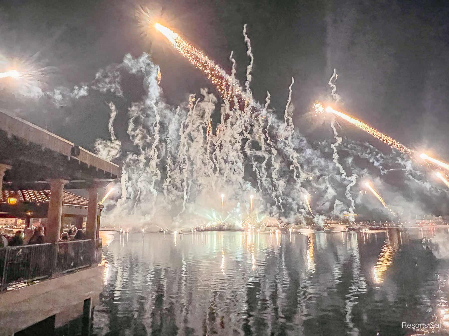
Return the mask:
{"type": "Polygon", "coordinates": [[[326,109],[324,109],[323,106],[320,103],[315,103],[313,105],[313,108],[315,109],[315,111],[317,113],[323,113],[324,111],[326,111],[327,113],[333,113],[336,116],[339,116],[340,118],[348,121],[352,125],[357,126],[361,130],[364,130],[365,132],[371,134],[374,138],[382,141],[383,143],[387,144],[388,146],[397,149],[401,153],[408,154],[408,155],[410,155],[412,157],[414,156],[414,151],[413,150],[411,150],[410,148],[404,146],[400,142],[397,142],[395,139],[390,138],[387,134],[383,134],[383,133],[379,132],[377,129],[375,129],[375,128],[369,126],[369,125],[366,125],[364,122],[362,122],[360,120],[352,118],[351,116],[348,116],[347,114],[344,114],[343,112],[334,110],[330,106],[328,106],[326,109]]]}

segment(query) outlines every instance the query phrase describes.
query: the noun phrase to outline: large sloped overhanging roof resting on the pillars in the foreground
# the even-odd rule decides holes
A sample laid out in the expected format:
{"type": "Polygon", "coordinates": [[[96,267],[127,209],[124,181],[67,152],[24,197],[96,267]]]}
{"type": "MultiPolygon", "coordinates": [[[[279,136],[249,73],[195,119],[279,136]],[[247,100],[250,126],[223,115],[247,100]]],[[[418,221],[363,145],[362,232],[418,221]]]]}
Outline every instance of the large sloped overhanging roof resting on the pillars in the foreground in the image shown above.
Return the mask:
{"type": "Polygon", "coordinates": [[[117,164],[9,113],[0,112],[0,163],[11,165],[4,182],[12,189],[49,189],[52,178],[84,189],[94,181],[120,177],[117,164]]]}

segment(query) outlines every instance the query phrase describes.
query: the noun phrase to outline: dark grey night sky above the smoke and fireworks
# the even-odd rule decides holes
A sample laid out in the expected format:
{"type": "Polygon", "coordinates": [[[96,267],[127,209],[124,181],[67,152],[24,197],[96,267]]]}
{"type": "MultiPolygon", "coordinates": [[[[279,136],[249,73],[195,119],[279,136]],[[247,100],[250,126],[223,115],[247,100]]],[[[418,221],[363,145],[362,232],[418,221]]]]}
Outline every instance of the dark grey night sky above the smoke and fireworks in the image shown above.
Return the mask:
{"type": "MultiPolygon", "coordinates": [[[[304,133],[310,134],[304,114],[315,99],[329,97],[327,82],[335,67],[344,111],[408,146],[431,148],[449,159],[447,1],[9,0],[0,3],[0,53],[40,52],[41,62],[56,67],[48,90],[91,82],[97,69],[119,63],[128,52],[152,54],[171,104],[212,87],[160,36],[140,35],[137,5],[162,7],[161,22],[227,70],[233,51],[241,81],[249,61],[242,36],[247,23],[255,98],[262,101],[269,90],[274,108],[283,110],[294,77],[294,121],[304,133]]],[[[0,109],[14,109],[81,146],[92,149],[96,138],[107,137],[105,97],[91,93],[62,108],[14,99],[0,91],[0,109]]],[[[126,116],[117,121],[117,132],[124,135],[126,116]]],[[[345,135],[376,144],[349,127],[345,135]]]]}

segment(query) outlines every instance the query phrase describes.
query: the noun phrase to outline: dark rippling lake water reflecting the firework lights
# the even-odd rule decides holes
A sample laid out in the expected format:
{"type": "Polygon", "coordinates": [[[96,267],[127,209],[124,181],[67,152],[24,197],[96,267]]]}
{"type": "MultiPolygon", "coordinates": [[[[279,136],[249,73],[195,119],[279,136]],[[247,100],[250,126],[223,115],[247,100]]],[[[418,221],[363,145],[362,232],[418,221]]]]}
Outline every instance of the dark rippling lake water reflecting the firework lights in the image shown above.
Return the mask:
{"type": "Polygon", "coordinates": [[[449,258],[415,239],[437,231],[102,233],[92,334],[447,335],[449,258]]]}

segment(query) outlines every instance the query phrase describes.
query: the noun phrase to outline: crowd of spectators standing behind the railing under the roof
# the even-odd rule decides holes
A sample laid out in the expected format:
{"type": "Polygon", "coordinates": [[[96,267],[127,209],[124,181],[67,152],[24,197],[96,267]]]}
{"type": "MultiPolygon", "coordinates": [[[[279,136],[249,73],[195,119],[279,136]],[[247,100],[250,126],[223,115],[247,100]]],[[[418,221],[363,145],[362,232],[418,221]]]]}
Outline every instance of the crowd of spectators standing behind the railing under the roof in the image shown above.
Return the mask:
{"type": "MultiPolygon", "coordinates": [[[[16,231],[13,237],[0,233],[0,248],[7,246],[22,246],[43,244],[45,242],[46,228],[43,225],[35,228],[26,228],[23,233],[22,230],[16,231]]],[[[86,239],[86,234],[81,228],[71,227],[68,232],[63,232],[59,241],[72,241],[86,239]]]]}

